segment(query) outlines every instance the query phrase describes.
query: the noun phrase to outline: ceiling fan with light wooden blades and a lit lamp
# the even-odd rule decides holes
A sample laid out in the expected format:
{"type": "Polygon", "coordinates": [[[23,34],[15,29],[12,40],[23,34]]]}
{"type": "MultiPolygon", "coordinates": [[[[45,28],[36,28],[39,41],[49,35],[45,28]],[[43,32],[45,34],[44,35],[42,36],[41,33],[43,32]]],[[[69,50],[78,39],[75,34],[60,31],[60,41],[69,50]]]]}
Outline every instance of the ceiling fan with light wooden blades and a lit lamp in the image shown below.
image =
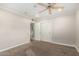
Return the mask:
{"type": "Polygon", "coordinates": [[[48,5],[45,5],[43,3],[38,3],[38,5],[45,7],[45,9],[40,11],[39,13],[48,10],[49,14],[52,14],[52,11],[56,11],[56,10],[62,11],[64,9],[63,6],[58,5],[57,3],[48,3],[48,5]]]}

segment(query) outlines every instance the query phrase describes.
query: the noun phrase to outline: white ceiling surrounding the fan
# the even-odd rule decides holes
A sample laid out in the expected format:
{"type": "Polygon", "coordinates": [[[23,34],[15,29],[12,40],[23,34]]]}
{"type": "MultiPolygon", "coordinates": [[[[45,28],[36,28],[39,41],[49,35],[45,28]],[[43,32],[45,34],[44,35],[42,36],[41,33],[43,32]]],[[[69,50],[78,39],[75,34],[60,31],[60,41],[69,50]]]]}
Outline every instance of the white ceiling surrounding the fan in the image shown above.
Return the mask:
{"type": "MultiPolygon", "coordinates": [[[[64,6],[63,12],[52,12],[52,15],[48,14],[48,11],[40,13],[39,19],[46,18],[54,18],[61,15],[72,15],[75,14],[78,10],[78,3],[61,3],[64,6]]],[[[30,16],[35,18],[34,16],[39,13],[44,7],[36,4],[36,3],[0,3],[0,8],[11,11],[13,13],[22,15],[22,16],[30,16]]]]}

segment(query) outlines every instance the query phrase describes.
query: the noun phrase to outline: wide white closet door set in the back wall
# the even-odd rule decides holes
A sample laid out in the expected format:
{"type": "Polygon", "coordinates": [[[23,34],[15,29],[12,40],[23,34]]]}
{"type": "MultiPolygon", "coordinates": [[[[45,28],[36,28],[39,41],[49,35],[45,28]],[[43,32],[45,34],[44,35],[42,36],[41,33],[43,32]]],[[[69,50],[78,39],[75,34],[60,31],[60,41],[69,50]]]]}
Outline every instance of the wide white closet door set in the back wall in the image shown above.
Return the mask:
{"type": "Polygon", "coordinates": [[[43,22],[40,23],[40,40],[41,41],[47,41],[52,42],[52,39],[54,39],[53,35],[53,24],[50,22],[43,22]]]}

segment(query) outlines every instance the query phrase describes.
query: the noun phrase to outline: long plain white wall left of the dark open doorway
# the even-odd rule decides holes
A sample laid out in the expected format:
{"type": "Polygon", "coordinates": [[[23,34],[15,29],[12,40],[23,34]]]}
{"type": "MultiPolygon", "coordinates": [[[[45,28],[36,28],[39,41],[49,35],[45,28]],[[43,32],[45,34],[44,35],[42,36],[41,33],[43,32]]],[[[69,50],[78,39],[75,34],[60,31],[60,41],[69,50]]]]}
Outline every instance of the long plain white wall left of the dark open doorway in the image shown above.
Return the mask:
{"type": "Polygon", "coordinates": [[[0,10],[0,50],[30,42],[30,21],[0,10]]]}

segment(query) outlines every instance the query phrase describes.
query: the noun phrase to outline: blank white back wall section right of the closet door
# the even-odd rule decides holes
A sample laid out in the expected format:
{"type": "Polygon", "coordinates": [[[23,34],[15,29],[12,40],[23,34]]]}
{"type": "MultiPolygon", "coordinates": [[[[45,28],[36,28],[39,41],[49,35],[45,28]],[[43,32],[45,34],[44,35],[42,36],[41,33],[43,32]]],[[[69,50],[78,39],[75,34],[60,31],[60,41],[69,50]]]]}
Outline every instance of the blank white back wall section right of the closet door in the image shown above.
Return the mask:
{"type": "Polygon", "coordinates": [[[75,43],[75,17],[62,16],[54,20],[54,36],[53,41],[74,45],[75,43]]]}

